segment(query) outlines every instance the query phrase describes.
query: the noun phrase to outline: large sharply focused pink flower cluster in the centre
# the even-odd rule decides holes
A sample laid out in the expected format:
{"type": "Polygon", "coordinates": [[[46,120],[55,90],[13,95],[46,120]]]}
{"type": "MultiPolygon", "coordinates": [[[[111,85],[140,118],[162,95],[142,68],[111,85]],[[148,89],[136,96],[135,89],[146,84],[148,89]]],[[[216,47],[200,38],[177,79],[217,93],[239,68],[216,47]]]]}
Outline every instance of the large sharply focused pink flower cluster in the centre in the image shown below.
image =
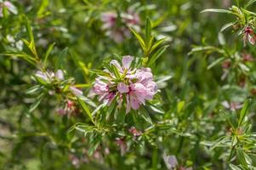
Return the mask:
{"type": "Polygon", "coordinates": [[[105,100],[108,104],[116,97],[119,97],[120,106],[122,100],[125,100],[127,113],[131,108],[138,110],[140,105],[145,105],[145,101],[153,99],[157,91],[151,69],[133,69],[133,60],[134,57],[129,55],[122,57],[122,65],[117,60],[112,60],[110,67],[116,68],[117,72],[105,70],[108,76],[96,78],[93,88],[94,93],[100,96],[100,100],[105,100]]]}

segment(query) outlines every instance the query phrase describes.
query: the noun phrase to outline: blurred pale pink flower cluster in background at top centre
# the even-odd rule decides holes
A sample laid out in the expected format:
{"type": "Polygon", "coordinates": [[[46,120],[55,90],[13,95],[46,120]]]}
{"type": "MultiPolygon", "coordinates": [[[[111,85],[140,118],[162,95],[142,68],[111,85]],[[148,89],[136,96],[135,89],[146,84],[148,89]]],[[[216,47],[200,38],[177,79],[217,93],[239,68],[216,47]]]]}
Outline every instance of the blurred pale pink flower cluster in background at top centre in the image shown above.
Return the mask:
{"type": "Polygon", "coordinates": [[[101,21],[103,22],[102,29],[115,42],[122,42],[125,37],[130,37],[128,27],[140,31],[139,14],[132,9],[128,9],[128,13],[122,13],[120,16],[116,12],[105,12],[101,15],[101,21]]]}

